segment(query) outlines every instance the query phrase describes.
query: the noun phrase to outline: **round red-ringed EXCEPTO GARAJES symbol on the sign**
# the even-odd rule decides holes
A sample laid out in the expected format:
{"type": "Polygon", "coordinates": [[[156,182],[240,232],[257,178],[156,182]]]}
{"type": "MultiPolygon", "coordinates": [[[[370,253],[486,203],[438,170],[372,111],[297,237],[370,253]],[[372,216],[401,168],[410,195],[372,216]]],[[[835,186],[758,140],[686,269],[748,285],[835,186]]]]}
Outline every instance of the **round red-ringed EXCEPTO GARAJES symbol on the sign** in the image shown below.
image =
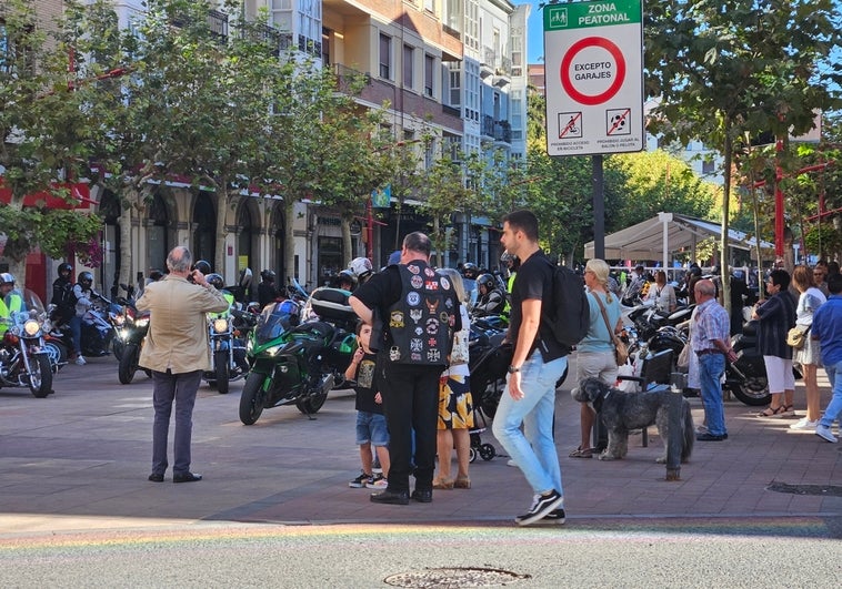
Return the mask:
{"type": "Polygon", "coordinates": [[[623,52],[603,37],[585,37],[573,43],[561,60],[561,85],[580,104],[593,106],[608,102],[625,80],[623,52]],[[583,55],[580,55],[583,54],[583,55]],[[595,84],[609,80],[604,84],[595,84]]]}

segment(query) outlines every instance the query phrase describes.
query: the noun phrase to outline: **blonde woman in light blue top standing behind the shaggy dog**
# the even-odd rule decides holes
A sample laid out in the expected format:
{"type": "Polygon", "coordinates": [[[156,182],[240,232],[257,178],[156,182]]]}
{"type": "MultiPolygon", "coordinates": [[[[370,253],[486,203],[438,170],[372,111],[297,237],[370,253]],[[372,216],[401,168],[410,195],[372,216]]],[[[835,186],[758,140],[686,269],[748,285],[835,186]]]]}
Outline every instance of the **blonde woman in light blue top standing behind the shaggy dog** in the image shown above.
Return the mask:
{"type": "MultiPolygon", "coordinates": [[[[588,304],[591,309],[588,335],[577,346],[577,383],[593,376],[609,386],[617,382],[618,358],[614,339],[622,331],[620,301],[608,290],[609,266],[603,260],[591,260],[584,266],[584,284],[588,287],[588,304]]],[[[591,428],[597,416],[587,403],[581,404],[582,441],[570,453],[571,458],[590,458],[599,453],[591,447],[591,428]]]]}

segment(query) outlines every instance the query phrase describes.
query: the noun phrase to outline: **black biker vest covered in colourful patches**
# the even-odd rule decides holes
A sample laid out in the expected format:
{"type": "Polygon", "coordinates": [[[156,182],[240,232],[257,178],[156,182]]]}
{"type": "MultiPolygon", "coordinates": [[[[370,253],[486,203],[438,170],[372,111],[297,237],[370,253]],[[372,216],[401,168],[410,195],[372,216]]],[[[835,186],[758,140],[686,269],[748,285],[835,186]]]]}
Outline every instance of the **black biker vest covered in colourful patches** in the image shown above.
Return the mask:
{"type": "Polygon", "coordinates": [[[383,317],[392,342],[387,357],[399,364],[447,366],[459,312],[453,285],[421,261],[398,268],[401,297],[383,317]]]}

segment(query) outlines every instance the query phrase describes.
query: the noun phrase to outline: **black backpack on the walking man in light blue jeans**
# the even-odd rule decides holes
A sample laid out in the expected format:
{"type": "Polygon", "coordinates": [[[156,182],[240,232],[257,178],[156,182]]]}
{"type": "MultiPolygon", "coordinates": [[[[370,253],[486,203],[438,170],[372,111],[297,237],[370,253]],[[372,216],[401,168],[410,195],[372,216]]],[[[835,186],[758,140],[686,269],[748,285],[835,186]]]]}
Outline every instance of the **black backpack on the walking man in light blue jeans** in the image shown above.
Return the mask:
{"type": "Polygon", "coordinates": [[[591,306],[584,292],[582,278],[567,266],[553,264],[552,299],[547,324],[557,342],[573,347],[588,335],[591,323],[591,306]]]}

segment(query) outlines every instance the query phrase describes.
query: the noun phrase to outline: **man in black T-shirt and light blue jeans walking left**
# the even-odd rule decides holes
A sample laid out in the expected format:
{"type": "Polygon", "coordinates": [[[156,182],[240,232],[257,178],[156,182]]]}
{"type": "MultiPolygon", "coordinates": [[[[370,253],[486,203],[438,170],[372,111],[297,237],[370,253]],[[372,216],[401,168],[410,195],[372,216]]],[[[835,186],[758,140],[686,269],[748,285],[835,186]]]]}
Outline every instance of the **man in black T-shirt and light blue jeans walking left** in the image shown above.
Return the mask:
{"type": "Polygon", "coordinates": [[[493,431],[534,491],[520,526],[541,519],[564,522],[561,467],[553,440],[555,383],[570,348],[552,334],[554,265],[538,245],[538,219],[530,211],[503,217],[500,243],[521,260],[512,288],[508,339],[514,346],[509,379],[494,415],[493,431]],[[521,433],[520,426],[524,430],[521,433]]]}

